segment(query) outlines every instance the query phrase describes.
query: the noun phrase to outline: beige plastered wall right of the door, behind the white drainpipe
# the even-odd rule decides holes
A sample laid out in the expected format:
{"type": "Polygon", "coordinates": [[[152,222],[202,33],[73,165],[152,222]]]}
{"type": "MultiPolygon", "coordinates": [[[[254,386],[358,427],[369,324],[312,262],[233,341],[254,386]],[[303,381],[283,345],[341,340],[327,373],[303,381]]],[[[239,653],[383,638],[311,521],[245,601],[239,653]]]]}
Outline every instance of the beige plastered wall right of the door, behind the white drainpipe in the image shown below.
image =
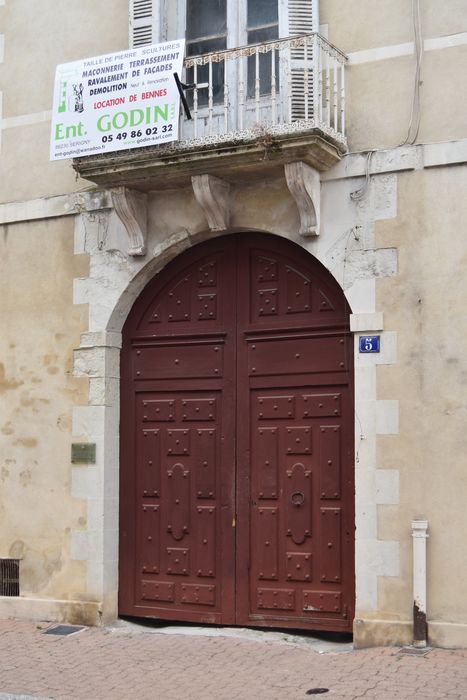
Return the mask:
{"type": "Polygon", "coordinates": [[[429,617],[465,623],[463,586],[467,476],[467,262],[465,166],[399,176],[398,217],[381,222],[379,244],[398,248],[397,278],[380,280],[377,305],[398,331],[397,366],[378,369],[378,397],[399,398],[400,434],[380,439],[378,463],[400,470],[401,502],[382,507],[381,538],[398,539],[401,577],[381,579],[381,611],[410,617],[411,518],[426,518],[429,617]]]}

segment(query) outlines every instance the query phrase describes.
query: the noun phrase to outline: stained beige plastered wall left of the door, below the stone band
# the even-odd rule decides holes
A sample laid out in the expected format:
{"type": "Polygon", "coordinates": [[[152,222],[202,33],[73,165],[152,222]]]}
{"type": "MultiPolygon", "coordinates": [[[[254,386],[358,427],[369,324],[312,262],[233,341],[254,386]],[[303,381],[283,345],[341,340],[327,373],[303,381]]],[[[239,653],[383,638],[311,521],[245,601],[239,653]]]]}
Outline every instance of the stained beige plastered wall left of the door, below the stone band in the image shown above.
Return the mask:
{"type": "Polygon", "coordinates": [[[70,220],[0,227],[0,556],[21,560],[22,593],[80,600],[85,570],[70,561],[70,532],[86,527],[70,494],[71,406],[87,400],[72,376],[86,309],[72,279],[70,220]]]}

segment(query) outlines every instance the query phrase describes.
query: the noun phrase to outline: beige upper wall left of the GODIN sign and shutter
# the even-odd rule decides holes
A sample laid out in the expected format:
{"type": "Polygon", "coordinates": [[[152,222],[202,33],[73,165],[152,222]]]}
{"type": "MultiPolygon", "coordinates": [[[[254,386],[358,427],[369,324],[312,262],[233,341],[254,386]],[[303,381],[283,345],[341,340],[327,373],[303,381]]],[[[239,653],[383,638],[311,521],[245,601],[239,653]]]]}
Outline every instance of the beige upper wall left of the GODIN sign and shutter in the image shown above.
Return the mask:
{"type": "Polygon", "coordinates": [[[0,201],[87,187],[68,161],[49,162],[55,68],[126,48],[128,1],[8,0],[0,33],[0,201]]]}

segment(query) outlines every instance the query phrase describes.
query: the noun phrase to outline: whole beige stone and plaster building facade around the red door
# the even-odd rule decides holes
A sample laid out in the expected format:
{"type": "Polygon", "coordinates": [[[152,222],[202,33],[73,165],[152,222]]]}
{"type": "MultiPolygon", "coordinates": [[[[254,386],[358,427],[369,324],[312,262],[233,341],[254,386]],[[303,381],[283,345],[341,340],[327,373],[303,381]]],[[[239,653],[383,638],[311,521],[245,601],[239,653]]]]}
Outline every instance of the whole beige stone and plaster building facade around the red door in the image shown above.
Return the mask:
{"type": "Polygon", "coordinates": [[[239,65],[237,47],[278,42],[278,105],[295,105],[281,125],[261,113],[233,138],[185,122],[170,148],[50,162],[57,64],[184,35],[189,2],[142,4],[39,0],[31,15],[0,0],[0,559],[19,562],[0,615],[118,616],[122,329],[179,256],[255,232],[318,261],[350,308],[355,643],[412,641],[412,522],[426,521],[429,641],[466,646],[464,0],[279,0],[272,35],[228,0],[225,44],[209,46],[239,65]],[[314,32],[305,114],[304,45],[287,41],[314,32]],[[367,336],[378,353],[360,352],[367,336]],[[95,462],[73,464],[85,443],[95,462]]]}

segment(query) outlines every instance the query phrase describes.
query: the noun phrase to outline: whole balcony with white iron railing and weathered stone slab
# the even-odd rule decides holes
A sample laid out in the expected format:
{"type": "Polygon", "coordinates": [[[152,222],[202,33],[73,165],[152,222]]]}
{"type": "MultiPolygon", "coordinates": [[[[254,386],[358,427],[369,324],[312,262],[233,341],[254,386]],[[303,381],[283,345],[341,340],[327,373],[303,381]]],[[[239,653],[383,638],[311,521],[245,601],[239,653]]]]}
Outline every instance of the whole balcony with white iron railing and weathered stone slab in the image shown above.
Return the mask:
{"type": "Polygon", "coordinates": [[[75,159],[102,186],[150,190],[193,175],[264,177],[302,161],[327,170],[347,150],[346,57],[319,34],[277,39],[185,59],[192,119],[177,142],[75,159]]]}

